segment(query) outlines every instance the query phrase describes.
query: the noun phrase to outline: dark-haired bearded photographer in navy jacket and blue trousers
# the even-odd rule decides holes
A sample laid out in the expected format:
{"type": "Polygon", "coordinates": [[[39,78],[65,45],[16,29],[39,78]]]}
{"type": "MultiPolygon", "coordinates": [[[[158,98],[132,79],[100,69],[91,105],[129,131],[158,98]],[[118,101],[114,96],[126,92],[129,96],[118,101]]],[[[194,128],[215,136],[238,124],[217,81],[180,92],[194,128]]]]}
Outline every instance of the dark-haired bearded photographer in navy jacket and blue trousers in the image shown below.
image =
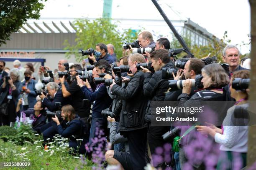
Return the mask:
{"type": "MultiPolygon", "coordinates": [[[[98,74],[111,72],[112,69],[106,60],[99,60],[94,64],[98,74]]],[[[92,139],[95,138],[96,127],[105,130],[107,128],[107,120],[101,115],[101,111],[108,108],[112,102],[109,97],[107,88],[104,83],[97,85],[95,92],[92,92],[91,85],[86,79],[86,82],[82,81],[77,76],[77,83],[81,87],[81,94],[84,95],[90,102],[94,102],[92,107],[92,122],[90,130],[89,143],[92,144],[92,139]]]]}

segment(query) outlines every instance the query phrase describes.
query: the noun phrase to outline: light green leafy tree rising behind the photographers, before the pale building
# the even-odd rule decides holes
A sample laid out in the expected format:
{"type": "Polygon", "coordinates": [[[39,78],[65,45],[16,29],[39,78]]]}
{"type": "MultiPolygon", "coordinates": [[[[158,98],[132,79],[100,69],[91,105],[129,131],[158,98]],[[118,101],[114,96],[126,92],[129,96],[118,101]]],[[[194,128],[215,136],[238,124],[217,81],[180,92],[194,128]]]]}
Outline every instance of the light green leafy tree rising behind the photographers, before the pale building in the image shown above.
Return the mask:
{"type": "Polygon", "coordinates": [[[108,18],[97,18],[95,20],[77,19],[74,21],[74,25],[77,28],[77,38],[75,39],[77,45],[71,46],[66,40],[64,45],[67,47],[64,50],[69,50],[66,53],[67,57],[74,54],[79,62],[84,58],[80,50],[95,49],[95,45],[98,43],[113,44],[115,53],[120,58],[123,52],[123,42],[133,42],[138,36],[137,32],[134,34],[131,29],[120,32],[117,28],[117,23],[111,23],[108,18]]]}

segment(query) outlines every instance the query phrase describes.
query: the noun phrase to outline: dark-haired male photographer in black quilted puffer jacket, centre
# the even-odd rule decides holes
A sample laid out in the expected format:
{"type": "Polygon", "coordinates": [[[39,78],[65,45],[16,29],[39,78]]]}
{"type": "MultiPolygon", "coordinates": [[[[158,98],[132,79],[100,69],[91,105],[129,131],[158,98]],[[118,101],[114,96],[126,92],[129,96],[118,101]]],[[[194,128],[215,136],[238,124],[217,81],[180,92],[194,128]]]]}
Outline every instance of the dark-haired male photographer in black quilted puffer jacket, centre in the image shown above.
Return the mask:
{"type": "MultiPolygon", "coordinates": [[[[152,106],[151,101],[163,101],[165,92],[169,88],[168,79],[162,79],[162,68],[174,69],[170,63],[169,52],[165,49],[155,50],[150,55],[152,67],[154,67],[154,74],[147,68],[143,68],[144,75],[144,96],[148,97],[148,105],[146,108],[145,121],[151,122],[152,106]]],[[[170,129],[169,126],[151,126],[148,125],[148,144],[151,154],[155,153],[155,149],[163,146],[165,141],[161,137],[170,129]]],[[[153,160],[154,161],[154,160],[153,160]]]]}

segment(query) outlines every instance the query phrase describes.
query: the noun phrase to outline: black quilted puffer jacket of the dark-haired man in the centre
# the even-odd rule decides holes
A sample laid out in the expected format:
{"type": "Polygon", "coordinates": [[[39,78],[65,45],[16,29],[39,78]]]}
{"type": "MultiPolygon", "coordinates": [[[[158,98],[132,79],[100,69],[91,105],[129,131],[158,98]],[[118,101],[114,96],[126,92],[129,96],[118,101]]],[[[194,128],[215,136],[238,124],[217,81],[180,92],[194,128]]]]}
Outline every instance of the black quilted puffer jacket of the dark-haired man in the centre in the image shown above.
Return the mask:
{"type": "MultiPolygon", "coordinates": [[[[174,68],[171,62],[164,65],[162,68],[174,68]]],[[[148,105],[146,108],[145,121],[151,122],[151,101],[163,101],[165,98],[165,93],[169,89],[170,79],[162,79],[162,68],[156,71],[154,74],[151,72],[145,73],[143,92],[144,96],[147,97],[148,105]]]]}

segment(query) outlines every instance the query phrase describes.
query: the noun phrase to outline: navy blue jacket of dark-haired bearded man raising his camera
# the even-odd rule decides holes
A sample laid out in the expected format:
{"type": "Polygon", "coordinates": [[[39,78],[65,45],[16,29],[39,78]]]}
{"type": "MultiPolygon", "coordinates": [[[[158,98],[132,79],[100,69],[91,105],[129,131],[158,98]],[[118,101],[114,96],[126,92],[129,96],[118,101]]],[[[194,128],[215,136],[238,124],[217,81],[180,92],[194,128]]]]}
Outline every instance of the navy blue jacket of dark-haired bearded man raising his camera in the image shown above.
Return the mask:
{"type": "Polygon", "coordinates": [[[84,96],[90,102],[95,101],[92,107],[92,116],[94,117],[102,117],[101,111],[108,108],[113,101],[108,95],[106,86],[104,84],[98,86],[95,92],[91,92],[86,86],[81,88],[84,96]]]}

